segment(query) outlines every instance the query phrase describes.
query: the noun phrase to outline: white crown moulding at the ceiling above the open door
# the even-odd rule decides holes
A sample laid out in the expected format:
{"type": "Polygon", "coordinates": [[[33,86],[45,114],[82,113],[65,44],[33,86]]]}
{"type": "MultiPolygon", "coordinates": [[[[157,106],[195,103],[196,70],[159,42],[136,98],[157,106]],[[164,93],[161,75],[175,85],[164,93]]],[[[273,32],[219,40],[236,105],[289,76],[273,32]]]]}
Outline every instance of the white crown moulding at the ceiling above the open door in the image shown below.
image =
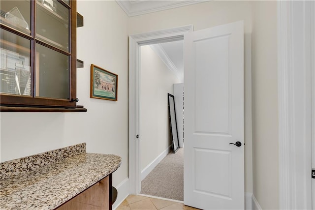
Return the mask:
{"type": "Polygon", "coordinates": [[[207,0],[168,0],[168,1],[130,1],[116,0],[120,7],[129,17],[158,12],[166,9],[173,9],[182,6],[188,6],[195,3],[205,2],[207,0]]]}

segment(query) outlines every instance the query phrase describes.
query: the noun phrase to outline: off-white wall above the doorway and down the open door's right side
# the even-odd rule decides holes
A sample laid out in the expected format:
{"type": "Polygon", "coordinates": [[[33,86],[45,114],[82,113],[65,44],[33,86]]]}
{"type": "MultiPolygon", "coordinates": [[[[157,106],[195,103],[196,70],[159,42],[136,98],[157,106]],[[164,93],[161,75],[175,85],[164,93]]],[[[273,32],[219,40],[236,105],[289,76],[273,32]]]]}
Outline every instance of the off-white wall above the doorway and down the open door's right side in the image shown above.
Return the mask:
{"type": "Polygon", "coordinates": [[[244,20],[245,65],[245,189],[252,192],[252,91],[251,1],[208,1],[190,6],[131,17],[129,34],[193,25],[194,30],[244,20]]]}

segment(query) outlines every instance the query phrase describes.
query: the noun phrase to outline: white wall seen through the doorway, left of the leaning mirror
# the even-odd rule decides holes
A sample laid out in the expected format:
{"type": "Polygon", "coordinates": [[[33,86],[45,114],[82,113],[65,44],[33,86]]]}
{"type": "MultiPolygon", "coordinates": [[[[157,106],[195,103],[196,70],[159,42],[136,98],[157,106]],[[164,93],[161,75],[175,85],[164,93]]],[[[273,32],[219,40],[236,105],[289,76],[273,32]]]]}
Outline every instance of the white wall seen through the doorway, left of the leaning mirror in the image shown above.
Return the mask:
{"type": "Polygon", "coordinates": [[[173,94],[173,84],[179,82],[149,45],[141,46],[141,170],[171,145],[167,93],[173,94]]]}

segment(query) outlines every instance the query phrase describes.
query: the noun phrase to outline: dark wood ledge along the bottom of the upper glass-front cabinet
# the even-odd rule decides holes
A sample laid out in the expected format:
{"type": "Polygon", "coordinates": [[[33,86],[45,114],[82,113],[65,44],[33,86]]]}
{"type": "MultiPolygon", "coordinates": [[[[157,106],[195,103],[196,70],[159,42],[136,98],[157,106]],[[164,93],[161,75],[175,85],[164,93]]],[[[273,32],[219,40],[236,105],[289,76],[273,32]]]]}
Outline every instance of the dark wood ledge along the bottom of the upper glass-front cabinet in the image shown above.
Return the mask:
{"type": "Polygon", "coordinates": [[[75,108],[55,108],[55,107],[13,107],[1,106],[0,112],[87,112],[83,106],[75,108]]]}

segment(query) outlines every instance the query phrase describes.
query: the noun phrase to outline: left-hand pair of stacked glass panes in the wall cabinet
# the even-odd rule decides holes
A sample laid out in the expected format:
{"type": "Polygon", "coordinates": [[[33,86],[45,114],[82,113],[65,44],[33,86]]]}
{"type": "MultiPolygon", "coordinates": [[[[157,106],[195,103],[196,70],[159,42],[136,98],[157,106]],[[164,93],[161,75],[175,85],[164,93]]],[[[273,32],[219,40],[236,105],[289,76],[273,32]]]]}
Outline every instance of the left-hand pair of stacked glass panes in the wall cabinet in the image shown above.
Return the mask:
{"type": "MultiPolygon", "coordinates": [[[[31,1],[1,0],[0,23],[31,34],[31,1]]],[[[31,95],[31,40],[0,30],[0,92],[31,95]]]]}

